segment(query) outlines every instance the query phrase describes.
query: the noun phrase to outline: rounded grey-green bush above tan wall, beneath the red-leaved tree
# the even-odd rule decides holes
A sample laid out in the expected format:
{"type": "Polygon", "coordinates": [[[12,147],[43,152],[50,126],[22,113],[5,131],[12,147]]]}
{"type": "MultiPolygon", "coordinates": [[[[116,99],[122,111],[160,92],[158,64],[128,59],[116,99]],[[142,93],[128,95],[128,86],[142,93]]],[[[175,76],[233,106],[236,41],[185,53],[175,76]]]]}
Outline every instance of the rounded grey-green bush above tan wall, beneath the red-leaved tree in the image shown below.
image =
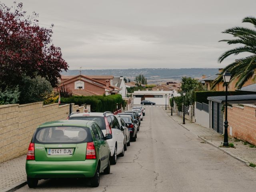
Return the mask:
{"type": "Polygon", "coordinates": [[[44,77],[30,78],[24,76],[20,83],[19,103],[32,103],[43,101],[52,94],[52,86],[44,77]]]}

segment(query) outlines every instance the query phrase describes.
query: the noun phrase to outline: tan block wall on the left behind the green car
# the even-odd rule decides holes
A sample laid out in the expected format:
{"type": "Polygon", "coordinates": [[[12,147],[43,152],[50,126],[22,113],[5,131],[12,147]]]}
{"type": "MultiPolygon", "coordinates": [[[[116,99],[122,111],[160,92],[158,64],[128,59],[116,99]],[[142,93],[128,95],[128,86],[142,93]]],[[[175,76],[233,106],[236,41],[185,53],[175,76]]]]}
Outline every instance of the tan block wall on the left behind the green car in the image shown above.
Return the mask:
{"type": "MultiPolygon", "coordinates": [[[[78,108],[82,109],[72,104],[73,112],[78,108]]],[[[26,154],[32,135],[40,124],[66,119],[68,114],[69,104],[0,105],[0,162],[26,154]]]]}

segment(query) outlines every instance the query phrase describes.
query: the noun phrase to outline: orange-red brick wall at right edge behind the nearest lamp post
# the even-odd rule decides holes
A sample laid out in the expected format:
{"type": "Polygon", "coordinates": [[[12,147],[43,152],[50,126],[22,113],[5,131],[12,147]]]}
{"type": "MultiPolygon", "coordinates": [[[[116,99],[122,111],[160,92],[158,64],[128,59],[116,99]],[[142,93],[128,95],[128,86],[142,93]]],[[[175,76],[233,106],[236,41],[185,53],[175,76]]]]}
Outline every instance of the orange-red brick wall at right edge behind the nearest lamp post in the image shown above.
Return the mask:
{"type": "Polygon", "coordinates": [[[228,107],[228,134],[256,145],[256,106],[228,107]],[[231,131],[230,131],[231,130],[231,131]]]}

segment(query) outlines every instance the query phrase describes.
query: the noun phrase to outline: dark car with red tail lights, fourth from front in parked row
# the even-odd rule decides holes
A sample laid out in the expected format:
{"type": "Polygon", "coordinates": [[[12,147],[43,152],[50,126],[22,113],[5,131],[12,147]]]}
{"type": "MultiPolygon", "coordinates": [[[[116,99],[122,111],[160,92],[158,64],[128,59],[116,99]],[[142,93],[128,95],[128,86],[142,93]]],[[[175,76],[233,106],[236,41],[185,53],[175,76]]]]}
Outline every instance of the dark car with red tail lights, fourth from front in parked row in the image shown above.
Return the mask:
{"type": "MultiPolygon", "coordinates": [[[[132,113],[131,114],[118,114],[118,116],[120,116],[124,122],[126,123],[126,126],[128,127],[128,130],[130,132],[130,140],[131,141],[136,141],[136,138],[137,138],[137,125],[136,125],[136,122],[134,122],[132,116],[133,115],[132,113]]],[[[130,143],[129,143],[130,145],[130,143]]]]}

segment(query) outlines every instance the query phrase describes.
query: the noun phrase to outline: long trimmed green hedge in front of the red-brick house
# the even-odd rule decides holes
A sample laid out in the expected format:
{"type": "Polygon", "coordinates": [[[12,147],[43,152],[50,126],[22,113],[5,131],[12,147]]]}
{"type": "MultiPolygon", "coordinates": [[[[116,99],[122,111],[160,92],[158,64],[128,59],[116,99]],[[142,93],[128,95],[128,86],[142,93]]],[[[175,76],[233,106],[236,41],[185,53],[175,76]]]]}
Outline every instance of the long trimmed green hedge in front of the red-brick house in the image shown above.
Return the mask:
{"type": "Polygon", "coordinates": [[[61,103],[74,103],[75,105],[81,106],[82,104],[91,105],[91,112],[105,112],[105,111],[116,111],[116,104],[118,108],[122,104],[126,106],[126,102],[122,99],[120,94],[108,95],[108,96],[72,96],[68,98],[61,98],[61,103]]]}

